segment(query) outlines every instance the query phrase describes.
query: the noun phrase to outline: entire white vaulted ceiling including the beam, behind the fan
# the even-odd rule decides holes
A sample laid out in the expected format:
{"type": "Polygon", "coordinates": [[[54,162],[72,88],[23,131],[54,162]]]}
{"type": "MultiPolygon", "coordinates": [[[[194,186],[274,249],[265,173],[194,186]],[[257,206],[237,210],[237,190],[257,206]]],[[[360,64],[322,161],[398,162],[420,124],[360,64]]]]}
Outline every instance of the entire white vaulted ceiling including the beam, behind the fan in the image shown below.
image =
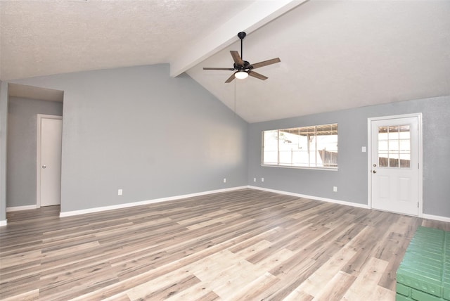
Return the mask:
{"type": "Polygon", "coordinates": [[[248,122],[450,95],[450,1],[0,1],[0,79],[170,63],[248,122]],[[287,13],[286,13],[287,11],[287,13]],[[225,84],[230,50],[281,63],[225,84]]]}

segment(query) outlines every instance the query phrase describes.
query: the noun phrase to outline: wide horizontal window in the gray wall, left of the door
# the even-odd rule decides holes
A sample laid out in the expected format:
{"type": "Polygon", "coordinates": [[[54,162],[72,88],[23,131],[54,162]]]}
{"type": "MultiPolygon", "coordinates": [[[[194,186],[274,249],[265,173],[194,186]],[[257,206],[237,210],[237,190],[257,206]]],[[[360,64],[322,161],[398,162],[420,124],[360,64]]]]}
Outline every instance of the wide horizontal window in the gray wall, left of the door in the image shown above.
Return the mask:
{"type": "Polygon", "coordinates": [[[338,168],[338,124],[262,132],[262,165],[338,168]]]}

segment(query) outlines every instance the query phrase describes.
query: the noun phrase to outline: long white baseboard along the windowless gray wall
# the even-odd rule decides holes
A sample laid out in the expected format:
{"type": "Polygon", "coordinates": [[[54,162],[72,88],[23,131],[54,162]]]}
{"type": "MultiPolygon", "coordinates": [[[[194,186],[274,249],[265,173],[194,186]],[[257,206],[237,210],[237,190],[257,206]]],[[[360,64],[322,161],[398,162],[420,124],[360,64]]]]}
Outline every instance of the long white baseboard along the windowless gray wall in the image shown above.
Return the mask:
{"type": "Polygon", "coordinates": [[[248,188],[248,186],[239,186],[239,187],[232,187],[232,188],[224,188],[224,189],[217,189],[213,191],[203,191],[199,193],[190,193],[183,196],[170,196],[168,198],[156,198],[153,200],[141,200],[139,202],[133,202],[133,203],[124,203],[124,204],[118,204],[118,205],[110,205],[110,206],[104,206],[104,207],[95,207],[95,208],[89,208],[89,209],[83,209],[83,210],[74,210],[74,211],[68,211],[68,212],[60,212],[59,217],[71,217],[74,215],[79,214],[86,214],[86,213],[94,213],[94,212],[101,212],[101,211],[107,211],[107,210],[115,210],[115,209],[122,209],[127,207],[134,207],[134,206],[140,206],[140,205],[148,205],[153,203],[160,203],[160,202],[167,202],[168,200],[180,200],[182,198],[192,198],[195,196],[205,196],[206,194],[211,193],[219,193],[219,192],[226,192],[226,191],[234,191],[238,189],[248,188]]]}

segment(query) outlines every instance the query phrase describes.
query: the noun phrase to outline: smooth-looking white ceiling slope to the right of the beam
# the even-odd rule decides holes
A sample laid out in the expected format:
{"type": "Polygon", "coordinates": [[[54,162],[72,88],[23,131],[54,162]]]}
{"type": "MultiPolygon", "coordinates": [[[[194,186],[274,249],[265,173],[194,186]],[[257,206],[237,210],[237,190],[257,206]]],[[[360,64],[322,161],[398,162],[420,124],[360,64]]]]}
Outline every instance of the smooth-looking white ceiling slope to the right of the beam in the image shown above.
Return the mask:
{"type": "Polygon", "coordinates": [[[248,122],[450,95],[450,1],[309,1],[245,37],[250,63],[281,58],[266,81],[202,70],[239,47],[188,75],[248,122]]]}

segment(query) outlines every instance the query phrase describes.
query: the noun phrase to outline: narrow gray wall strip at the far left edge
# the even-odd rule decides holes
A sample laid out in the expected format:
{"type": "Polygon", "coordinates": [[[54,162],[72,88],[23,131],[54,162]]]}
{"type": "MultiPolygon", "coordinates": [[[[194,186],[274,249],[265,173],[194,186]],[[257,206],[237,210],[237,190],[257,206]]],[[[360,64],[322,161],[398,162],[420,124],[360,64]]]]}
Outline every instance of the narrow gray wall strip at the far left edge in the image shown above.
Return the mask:
{"type": "Polygon", "coordinates": [[[8,84],[0,81],[0,222],[6,221],[6,137],[8,125],[8,84]]]}

